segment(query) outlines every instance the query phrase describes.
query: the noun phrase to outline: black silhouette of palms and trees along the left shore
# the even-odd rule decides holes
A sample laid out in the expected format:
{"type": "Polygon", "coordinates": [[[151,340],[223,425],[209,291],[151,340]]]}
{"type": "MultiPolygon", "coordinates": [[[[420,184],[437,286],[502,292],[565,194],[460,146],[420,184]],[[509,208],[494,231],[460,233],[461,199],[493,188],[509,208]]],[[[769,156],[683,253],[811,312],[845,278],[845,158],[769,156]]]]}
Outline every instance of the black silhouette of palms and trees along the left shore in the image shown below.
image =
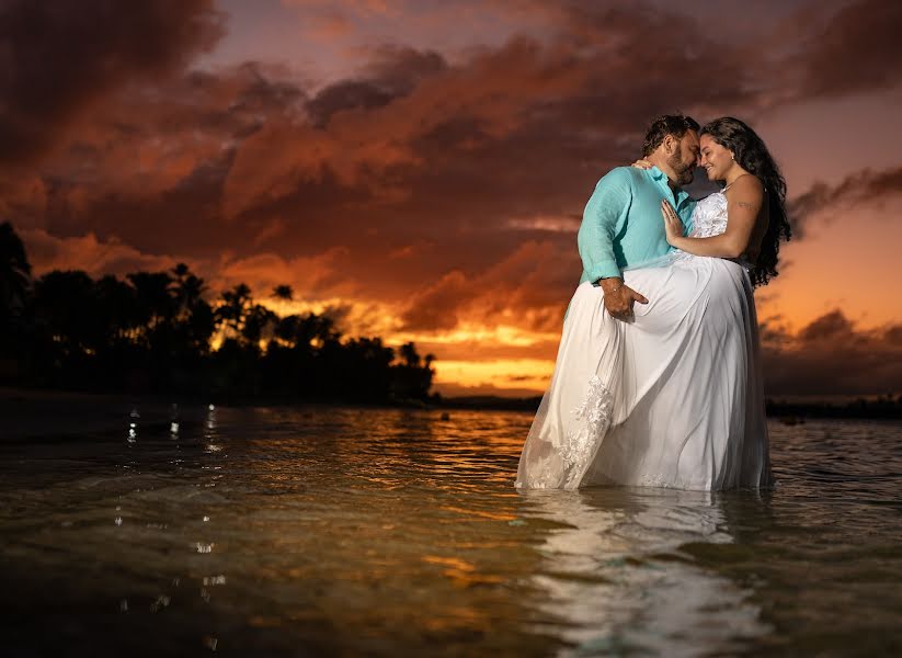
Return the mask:
{"type": "MultiPolygon", "coordinates": [[[[124,280],[79,270],[33,279],[22,240],[0,224],[0,384],[224,401],[430,399],[434,356],[412,342],[396,351],[342,336],[328,315],[282,317],[243,283],[213,303],[206,293],[183,263],[124,280]]],[[[288,285],[273,295],[294,296],[288,285]]]]}

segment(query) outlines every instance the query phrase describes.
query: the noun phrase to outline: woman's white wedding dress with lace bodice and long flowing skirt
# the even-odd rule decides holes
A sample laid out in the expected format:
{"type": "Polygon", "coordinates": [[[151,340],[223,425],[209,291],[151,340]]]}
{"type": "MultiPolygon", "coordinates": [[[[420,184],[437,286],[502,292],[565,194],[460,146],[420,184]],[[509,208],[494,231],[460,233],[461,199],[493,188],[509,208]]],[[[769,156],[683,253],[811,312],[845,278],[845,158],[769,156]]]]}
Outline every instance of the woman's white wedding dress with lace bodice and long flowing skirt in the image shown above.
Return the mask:
{"type": "MultiPolygon", "coordinates": [[[[693,213],[723,232],[727,198],[693,213]]],[[[624,272],[649,304],[615,320],[601,287],[573,295],[551,384],[516,487],[638,485],[713,490],[772,483],[757,320],[743,263],[674,251],[624,272]]]]}

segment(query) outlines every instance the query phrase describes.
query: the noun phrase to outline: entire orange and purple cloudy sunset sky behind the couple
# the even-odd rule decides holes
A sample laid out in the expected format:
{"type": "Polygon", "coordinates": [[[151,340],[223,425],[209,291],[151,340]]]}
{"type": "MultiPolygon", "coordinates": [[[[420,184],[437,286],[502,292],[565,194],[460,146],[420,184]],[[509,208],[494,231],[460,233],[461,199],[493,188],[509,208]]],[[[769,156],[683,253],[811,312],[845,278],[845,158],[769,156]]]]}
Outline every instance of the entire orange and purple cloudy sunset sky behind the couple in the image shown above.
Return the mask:
{"type": "Polygon", "coordinates": [[[38,275],[289,284],[445,395],[535,395],[595,182],[658,114],[734,115],[795,222],[768,394],[902,393],[900,30],[897,0],[4,0],[0,219],[38,275]]]}

